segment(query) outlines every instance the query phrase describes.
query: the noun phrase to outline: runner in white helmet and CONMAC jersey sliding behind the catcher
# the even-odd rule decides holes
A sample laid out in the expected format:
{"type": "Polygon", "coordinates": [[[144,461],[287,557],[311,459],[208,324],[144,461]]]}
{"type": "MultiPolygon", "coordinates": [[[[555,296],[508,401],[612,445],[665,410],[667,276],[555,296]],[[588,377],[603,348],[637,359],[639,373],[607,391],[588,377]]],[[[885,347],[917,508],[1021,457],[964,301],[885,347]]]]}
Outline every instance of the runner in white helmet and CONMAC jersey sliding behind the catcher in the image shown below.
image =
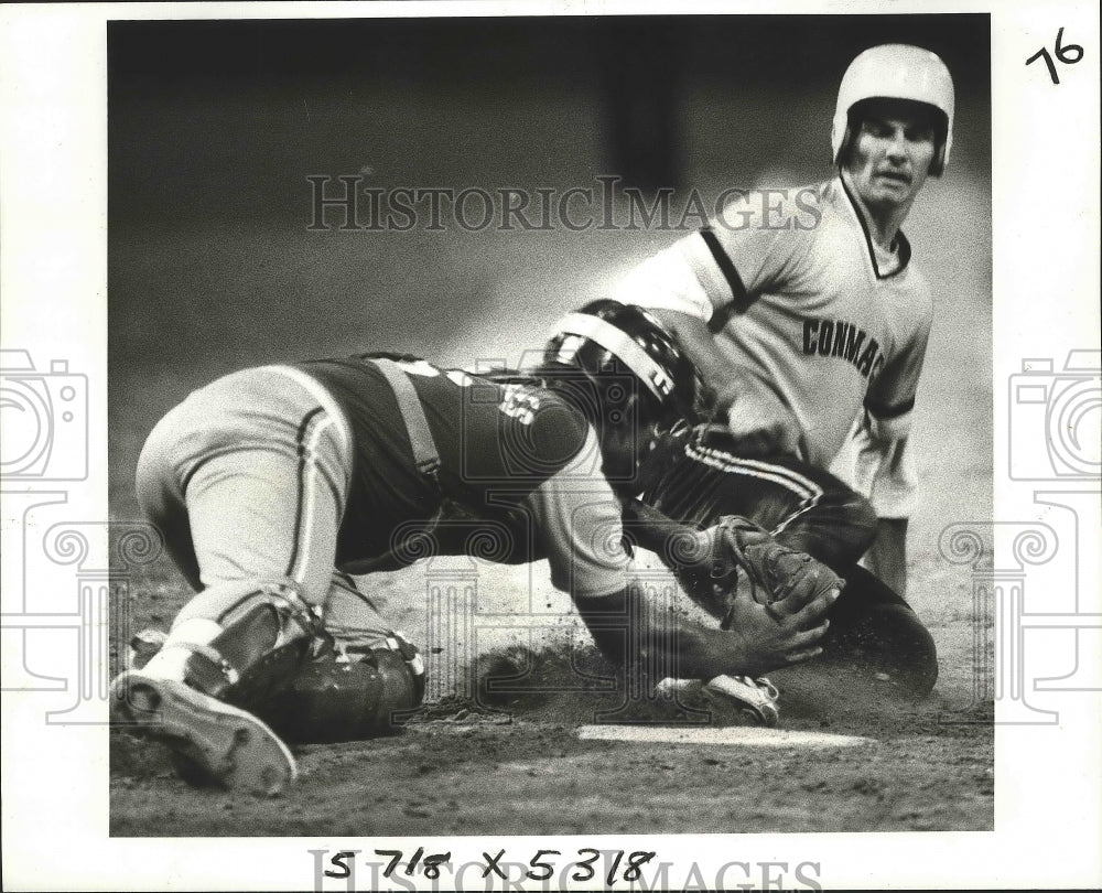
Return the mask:
{"type": "Polygon", "coordinates": [[[901,226],[949,161],[952,123],[952,78],[937,55],[866,50],[839,90],[836,176],[787,203],[747,194],[629,273],[625,300],[674,332],[726,423],[689,444],[692,462],[653,491],[653,505],[706,518],[717,506],[736,510],[732,493],[745,485],[744,499],[748,487],[773,502],[766,526],[802,515],[787,523],[832,563],[856,559],[872,539],[866,561],[905,594],[916,492],[908,431],[932,301],[901,226]],[[821,471],[851,435],[846,476],[871,498],[874,526],[868,506],[821,471]]]}

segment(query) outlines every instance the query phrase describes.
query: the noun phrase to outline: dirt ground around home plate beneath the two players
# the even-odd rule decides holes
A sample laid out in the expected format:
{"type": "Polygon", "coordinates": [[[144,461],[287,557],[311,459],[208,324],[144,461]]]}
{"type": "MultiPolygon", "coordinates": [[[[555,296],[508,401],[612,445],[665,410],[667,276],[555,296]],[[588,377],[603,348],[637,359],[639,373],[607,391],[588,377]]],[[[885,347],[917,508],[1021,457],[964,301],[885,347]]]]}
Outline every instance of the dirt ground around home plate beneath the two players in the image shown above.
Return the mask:
{"type": "MultiPolygon", "coordinates": [[[[514,589],[510,572],[516,573],[503,569],[499,574],[504,591],[514,589]]],[[[423,585],[421,573],[414,568],[388,575],[381,584],[365,582],[374,583],[370,591],[377,596],[382,594],[385,613],[415,630],[417,600],[403,604],[402,595],[423,585]]],[[[479,582],[483,591],[497,591],[493,580],[479,582]]],[[[163,626],[183,593],[152,581],[144,591],[154,598],[134,600],[134,623],[163,626]]],[[[516,626],[506,627],[508,638],[504,633],[486,638],[487,650],[477,663],[483,684],[476,681],[467,698],[444,695],[399,735],[295,747],[300,779],[273,799],[188,788],[175,777],[160,745],[112,733],[111,833],[364,837],[992,828],[991,706],[971,701],[966,617],[931,623],[941,679],[933,696],[920,701],[867,671],[809,665],[773,675],[781,689],[781,727],[873,741],[844,749],[581,740],[576,730],[593,722],[684,729],[688,720],[702,719],[693,711],[706,706],[691,696],[680,702],[629,703],[623,687],[562,691],[579,687],[580,678],[611,675],[570,620],[568,615],[548,633],[550,644],[536,653],[507,644],[526,638],[518,638],[516,626]],[[526,692],[487,691],[487,676],[508,678],[518,670],[527,671],[526,692]]],[[[738,723],[736,717],[713,711],[709,728],[738,723]]]]}

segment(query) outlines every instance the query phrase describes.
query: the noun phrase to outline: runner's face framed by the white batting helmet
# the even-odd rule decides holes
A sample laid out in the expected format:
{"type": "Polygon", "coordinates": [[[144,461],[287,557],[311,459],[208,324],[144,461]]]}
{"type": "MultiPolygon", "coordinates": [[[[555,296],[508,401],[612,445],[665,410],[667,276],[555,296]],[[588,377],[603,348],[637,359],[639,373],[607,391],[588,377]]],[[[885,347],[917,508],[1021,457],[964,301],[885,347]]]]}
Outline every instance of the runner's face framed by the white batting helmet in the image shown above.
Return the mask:
{"type": "Polygon", "coordinates": [[[906,207],[926,182],[936,149],[929,115],[898,106],[871,108],[846,168],[866,205],[906,207]]]}

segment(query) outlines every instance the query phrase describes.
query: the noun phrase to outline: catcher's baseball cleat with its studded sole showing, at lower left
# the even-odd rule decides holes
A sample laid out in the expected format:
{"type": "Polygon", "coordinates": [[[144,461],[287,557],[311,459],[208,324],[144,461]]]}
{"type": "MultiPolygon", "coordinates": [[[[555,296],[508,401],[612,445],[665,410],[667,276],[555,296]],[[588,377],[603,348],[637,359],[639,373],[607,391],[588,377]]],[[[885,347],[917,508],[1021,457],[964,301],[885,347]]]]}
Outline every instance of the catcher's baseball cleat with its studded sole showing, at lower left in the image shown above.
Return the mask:
{"type": "Polygon", "coordinates": [[[273,795],[299,774],[263,722],[184,682],[128,670],[111,685],[110,711],[112,724],[163,741],[193,784],[273,795]]]}

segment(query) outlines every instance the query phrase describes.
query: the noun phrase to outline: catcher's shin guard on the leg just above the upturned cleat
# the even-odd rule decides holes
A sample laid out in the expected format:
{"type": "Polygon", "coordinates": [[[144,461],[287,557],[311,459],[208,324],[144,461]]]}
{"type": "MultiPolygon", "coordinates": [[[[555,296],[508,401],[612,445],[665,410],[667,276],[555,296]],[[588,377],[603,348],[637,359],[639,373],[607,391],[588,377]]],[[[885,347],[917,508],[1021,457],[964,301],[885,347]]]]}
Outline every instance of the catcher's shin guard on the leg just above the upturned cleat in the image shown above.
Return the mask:
{"type": "Polygon", "coordinates": [[[192,652],[184,680],[228,703],[256,710],[327,644],[317,611],[290,580],[212,587],[201,598],[219,604],[223,628],[206,644],[183,645],[192,652]]]}

